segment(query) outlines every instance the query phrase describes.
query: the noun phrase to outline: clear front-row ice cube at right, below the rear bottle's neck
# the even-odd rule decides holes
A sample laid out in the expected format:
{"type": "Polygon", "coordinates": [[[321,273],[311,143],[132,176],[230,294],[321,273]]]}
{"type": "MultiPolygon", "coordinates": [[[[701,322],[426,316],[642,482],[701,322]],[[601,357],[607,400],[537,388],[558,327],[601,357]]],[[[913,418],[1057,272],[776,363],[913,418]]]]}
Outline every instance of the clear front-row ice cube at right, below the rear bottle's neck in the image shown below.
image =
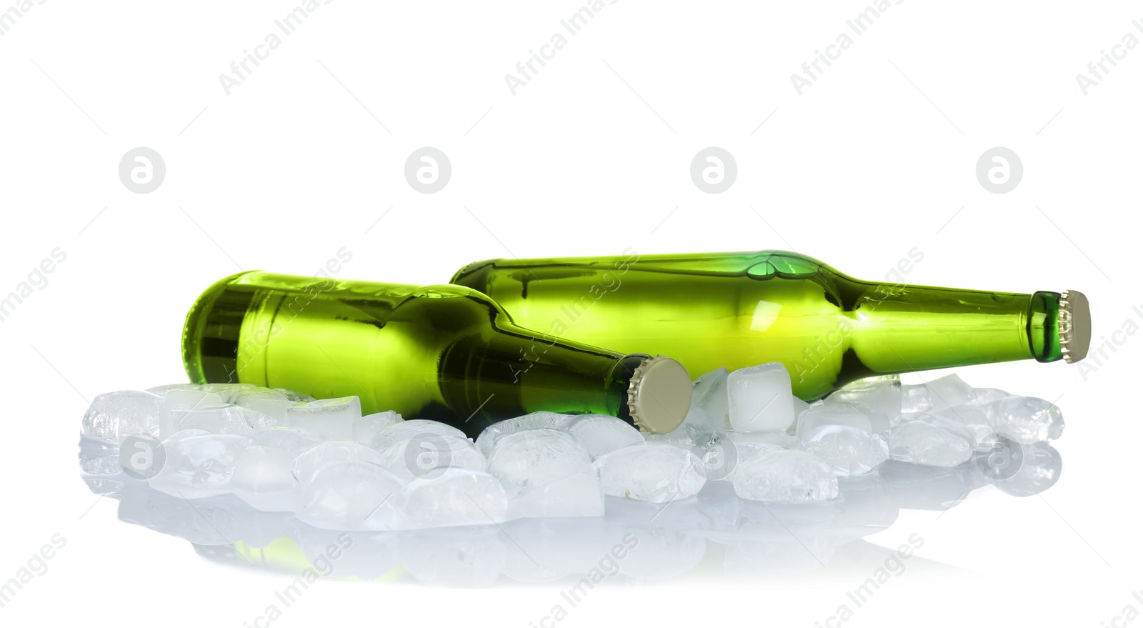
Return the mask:
{"type": "Polygon", "coordinates": [[[889,430],[889,458],[929,467],[957,467],[973,456],[967,428],[935,414],[902,415],[889,430]]]}

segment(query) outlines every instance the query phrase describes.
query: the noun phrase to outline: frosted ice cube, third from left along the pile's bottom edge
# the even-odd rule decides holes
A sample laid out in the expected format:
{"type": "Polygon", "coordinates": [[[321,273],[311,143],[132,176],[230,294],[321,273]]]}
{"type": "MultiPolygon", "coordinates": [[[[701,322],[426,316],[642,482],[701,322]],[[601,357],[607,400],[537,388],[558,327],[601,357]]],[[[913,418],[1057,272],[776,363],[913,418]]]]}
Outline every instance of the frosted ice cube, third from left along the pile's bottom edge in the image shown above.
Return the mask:
{"type": "Polygon", "coordinates": [[[297,518],[329,530],[390,530],[402,486],[377,464],[330,462],[302,482],[297,518]]]}

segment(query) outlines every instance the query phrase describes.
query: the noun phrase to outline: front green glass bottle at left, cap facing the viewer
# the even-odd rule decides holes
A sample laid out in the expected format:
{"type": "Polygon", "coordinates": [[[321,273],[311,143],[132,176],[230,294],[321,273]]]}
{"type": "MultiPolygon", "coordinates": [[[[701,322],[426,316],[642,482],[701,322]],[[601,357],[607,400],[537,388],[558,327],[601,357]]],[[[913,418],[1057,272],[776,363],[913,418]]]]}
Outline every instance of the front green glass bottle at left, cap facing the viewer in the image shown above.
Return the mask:
{"type": "Polygon", "coordinates": [[[357,395],[365,413],[393,410],[469,436],[536,411],[610,414],[665,432],[690,403],[677,361],[530,332],[455,285],[242,272],[194,302],[183,363],[195,383],[357,395]]]}

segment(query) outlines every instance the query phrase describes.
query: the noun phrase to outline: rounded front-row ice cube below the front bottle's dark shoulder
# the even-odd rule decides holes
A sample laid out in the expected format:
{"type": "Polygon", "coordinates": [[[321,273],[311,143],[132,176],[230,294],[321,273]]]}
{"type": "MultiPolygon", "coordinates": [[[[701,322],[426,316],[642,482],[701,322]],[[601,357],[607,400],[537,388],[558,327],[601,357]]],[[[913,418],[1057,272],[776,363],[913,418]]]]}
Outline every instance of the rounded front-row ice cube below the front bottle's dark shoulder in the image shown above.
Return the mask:
{"type": "Polygon", "coordinates": [[[432,478],[410,482],[402,506],[408,527],[488,524],[504,519],[507,496],[495,477],[448,467],[432,478]]]}

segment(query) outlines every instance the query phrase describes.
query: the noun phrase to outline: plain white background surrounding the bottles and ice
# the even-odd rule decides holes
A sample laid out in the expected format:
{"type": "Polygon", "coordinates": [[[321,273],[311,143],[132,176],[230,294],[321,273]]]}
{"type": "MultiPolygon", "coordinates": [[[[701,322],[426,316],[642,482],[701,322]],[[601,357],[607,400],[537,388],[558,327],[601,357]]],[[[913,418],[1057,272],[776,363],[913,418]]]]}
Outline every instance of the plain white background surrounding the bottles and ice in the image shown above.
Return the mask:
{"type": "MultiPolygon", "coordinates": [[[[904,1],[799,96],[790,75],[864,2],[621,0],[512,95],[504,75],[581,2],[336,0],[227,96],[219,74],[296,6],[250,5],[49,0],[0,38],[0,293],[66,252],[0,323],[0,579],[53,534],[67,539],[0,609],[5,626],[243,626],[287,583],[120,523],[75,463],[88,400],[184,381],[183,316],[239,269],[309,275],[347,247],[342,277],[432,284],[486,257],[794,248],[879,279],[919,247],[910,283],[1078,288],[1095,343],[1143,324],[1143,50],[1086,96],[1076,81],[1125,33],[1143,38],[1137,5],[904,1]],[[688,173],[712,145],[738,166],[720,194],[688,173]],[[1005,194],[974,172],[998,145],[1024,166],[1005,194]],[[166,161],[152,193],[119,180],[135,146],[166,161]],[[438,193],[405,181],[419,146],[451,160],[438,193]]],[[[845,625],[1101,626],[1143,610],[1130,595],[1143,588],[1141,419],[1118,400],[1136,394],[1136,336],[1116,336],[1086,379],[1062,363],[958,369],[1060,399],[1062,479],[1023,499],[977,491],[940,519],[903,511],[869,540],[920,533],[918,556],[946,567],[894,578],[845,625]]],[[[830,564],[786,581],[610,587],[561,625],[816,626],[869,575],[830,564]]],[[[274,625],[522,627],[554,596],[323,581],[274,625]]]]}

